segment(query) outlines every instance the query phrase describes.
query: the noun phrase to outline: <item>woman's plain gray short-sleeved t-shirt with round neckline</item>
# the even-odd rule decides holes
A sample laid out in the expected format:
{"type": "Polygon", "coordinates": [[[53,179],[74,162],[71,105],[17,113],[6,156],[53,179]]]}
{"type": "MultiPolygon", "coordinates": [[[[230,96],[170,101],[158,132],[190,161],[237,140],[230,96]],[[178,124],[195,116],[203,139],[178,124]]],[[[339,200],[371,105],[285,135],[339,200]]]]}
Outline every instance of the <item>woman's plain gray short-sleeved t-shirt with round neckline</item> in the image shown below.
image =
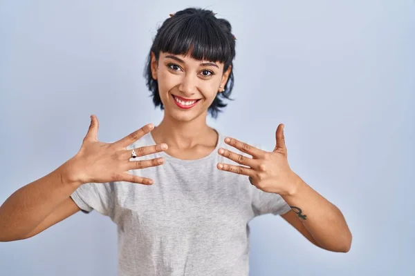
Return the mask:
{"type": "MultiPolygon", "coordinates": [[[[128,182],[84,184],[72,199],[84,213],[97,210],[118,226],[118,275],[249,274],[248,222],[291,208],[280,195],[252,186],[248,177],[216,168],[236,164],[218,154],[181,160],[158,152],[139,157],[164,157],[165,164],[129,173],[150,177],[154,184],[128,182]]],[[[151,133],[129,148],[154,145],[151,133]]],[[[248,156],[246,154],[243,154],[248,156]]]]}

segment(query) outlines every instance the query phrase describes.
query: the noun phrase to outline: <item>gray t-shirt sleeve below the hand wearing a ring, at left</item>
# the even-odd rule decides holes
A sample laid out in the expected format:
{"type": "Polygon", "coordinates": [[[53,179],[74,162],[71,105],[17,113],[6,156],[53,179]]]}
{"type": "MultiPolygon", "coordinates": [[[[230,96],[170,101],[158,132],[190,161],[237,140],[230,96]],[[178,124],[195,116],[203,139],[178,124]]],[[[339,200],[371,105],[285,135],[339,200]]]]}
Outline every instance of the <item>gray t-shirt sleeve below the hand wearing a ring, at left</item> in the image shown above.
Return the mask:
{"type": "Polygon", "coordinates": [[[71,198],[84,213],[97,210],[102,215],[113,216],[115,192],[112,183],[82,184],[72,193],[71,198]]]}

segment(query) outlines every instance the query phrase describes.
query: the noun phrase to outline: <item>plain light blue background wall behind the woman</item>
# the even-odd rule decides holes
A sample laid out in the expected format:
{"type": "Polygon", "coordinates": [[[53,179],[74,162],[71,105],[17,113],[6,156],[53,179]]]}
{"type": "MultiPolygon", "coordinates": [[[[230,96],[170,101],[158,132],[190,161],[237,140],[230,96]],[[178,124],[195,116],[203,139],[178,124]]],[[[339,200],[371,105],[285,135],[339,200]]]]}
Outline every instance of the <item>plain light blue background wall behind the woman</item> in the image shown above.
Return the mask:
{"type": "MultiPolygon", "coordinates": [[[[233,97],[209,123],[288,161],[338,206],[347,254],[280,217],[250,223],[250,275],[415,275],[414,1],[0,1],[0,203],[75,155],[158,124],[142,72],[169,13],[211,8],[237,37],[233,97]]],[[[0,275],[116,275],[116,225],[77,213],[0,244],[0,275]]],[[[212,264],[214,265],[214,264],[212,264]]]]}

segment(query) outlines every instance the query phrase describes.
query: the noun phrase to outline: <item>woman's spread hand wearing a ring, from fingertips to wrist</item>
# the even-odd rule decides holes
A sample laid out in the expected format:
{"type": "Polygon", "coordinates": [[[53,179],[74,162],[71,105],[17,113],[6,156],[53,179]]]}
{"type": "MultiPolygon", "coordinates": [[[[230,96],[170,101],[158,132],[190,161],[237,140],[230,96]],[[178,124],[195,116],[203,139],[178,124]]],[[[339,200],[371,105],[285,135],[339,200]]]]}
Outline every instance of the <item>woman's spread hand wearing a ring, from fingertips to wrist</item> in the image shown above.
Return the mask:
{"type": "MultiPolygon", "coordinates": [[[[91,116],[91,125],[86,133],[80,151],[64,164],[66,177],[76,183],[106,183],[112,181],[127,181],[151,185],[152,179],[131,175],[129,170],[159,166],[163,158],[130,161],[131,150],[127,146],[133,144],[154,126],[147,124],[126,137],[108,144],[98,141],[98,118],[91,116]]],[[[167,150],[167,144],[135,148],[137,157],[167,150]]],[[[133,159],[132,159],[133,160],[133,159]]]]}

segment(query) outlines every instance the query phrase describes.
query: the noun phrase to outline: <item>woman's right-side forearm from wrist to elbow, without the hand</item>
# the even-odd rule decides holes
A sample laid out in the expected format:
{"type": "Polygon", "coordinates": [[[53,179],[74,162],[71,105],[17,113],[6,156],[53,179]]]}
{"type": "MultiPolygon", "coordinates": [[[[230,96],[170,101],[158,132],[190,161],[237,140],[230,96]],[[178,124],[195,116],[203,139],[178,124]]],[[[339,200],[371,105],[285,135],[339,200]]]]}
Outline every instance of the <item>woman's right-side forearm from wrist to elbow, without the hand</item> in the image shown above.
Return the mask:
{"type": "Polygon", "coordinates": [[[351,232],[340,210],[296,177],[290,195],[282,195],[297,214],[315,242],[322,248],[347,252],[351,246],[351,232]]]}

